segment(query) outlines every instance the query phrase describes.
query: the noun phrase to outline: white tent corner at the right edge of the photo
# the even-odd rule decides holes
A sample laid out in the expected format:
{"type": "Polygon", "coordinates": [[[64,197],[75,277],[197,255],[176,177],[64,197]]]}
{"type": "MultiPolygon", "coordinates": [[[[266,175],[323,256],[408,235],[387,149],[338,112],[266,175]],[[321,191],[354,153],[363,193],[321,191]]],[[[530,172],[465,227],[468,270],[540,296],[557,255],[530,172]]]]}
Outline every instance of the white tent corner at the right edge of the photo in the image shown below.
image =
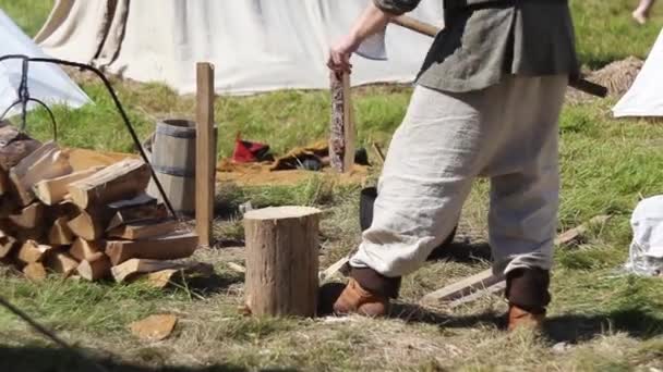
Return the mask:
{"type": "Polygon", "coordinates": [[[613,112],[616,117],[663,116],[663,30],[634,85],[613,112]]]}

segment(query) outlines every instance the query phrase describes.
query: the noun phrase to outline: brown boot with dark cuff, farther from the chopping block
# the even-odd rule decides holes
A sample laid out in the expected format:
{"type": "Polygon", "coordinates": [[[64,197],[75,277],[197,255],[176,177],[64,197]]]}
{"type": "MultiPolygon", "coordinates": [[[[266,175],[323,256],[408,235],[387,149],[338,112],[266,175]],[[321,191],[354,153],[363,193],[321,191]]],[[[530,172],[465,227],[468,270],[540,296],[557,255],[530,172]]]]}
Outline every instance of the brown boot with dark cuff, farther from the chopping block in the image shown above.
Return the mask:
{"type": "Polygon", "coordinates": [[[518,269],[506,276],[506,298],[509,301],[508,330],[530,327],[541,330],[545,308],[551,301],[550,272],[542,269],[518,269]]]}

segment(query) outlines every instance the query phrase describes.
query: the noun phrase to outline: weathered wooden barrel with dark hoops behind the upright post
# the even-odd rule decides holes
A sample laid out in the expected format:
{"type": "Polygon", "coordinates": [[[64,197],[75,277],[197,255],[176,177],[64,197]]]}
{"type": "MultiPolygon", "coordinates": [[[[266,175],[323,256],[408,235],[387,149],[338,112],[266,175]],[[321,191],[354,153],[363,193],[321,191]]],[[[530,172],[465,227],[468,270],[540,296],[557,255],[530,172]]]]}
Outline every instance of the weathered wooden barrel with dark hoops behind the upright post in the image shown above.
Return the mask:
{"type": "MultiPolygon", "coordinates": [[[[172,208],[182,214],[195,212],[195,122],[165,120],[157,123],[152,144],[152,166],[172,208]]],[[[154,182],[148,194],[161,200],[154,182]]]]}

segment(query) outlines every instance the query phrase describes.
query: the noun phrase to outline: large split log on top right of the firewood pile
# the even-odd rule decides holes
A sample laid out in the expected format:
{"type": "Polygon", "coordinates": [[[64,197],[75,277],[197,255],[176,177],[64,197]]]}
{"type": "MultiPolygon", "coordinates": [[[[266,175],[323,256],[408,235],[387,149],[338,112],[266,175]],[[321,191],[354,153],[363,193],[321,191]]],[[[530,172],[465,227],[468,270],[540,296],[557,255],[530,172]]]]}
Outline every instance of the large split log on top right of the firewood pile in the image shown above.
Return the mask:
{"type": "Polygon", "coordinates": [[[68,186],[72,201],[82,209],[131,199],[145,191],[150,173],[137,159],[114,163],[92,176],[68,186]]]}

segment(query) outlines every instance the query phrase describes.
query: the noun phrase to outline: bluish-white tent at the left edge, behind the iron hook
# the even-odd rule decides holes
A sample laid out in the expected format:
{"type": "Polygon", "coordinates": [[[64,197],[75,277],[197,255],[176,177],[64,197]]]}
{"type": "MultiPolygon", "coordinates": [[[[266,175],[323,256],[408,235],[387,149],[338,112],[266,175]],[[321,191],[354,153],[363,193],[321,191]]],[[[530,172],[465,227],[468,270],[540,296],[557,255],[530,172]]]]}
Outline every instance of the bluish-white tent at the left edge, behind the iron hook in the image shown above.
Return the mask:
{"type": "MultiPolygon", "coordinates": [[[[0,10],[0,55],[23,54],[45,58],[46,54],[25,35],[19,26],[0,10]]],[[[7,60],[0,63],[0,113],[12,107],[19,98],[17,88],[22,79],[22,61],[7,60]]],[[[53,64],[31,63],[27,87],[31,97],[46,104],[63,103],[79,108],[89,99],[69,76],[53,64]]],[[[28,109],[32,109],[32,103],[28,109]]],[[[8,114],[19,112],[14,107],[8,114]]]]}

